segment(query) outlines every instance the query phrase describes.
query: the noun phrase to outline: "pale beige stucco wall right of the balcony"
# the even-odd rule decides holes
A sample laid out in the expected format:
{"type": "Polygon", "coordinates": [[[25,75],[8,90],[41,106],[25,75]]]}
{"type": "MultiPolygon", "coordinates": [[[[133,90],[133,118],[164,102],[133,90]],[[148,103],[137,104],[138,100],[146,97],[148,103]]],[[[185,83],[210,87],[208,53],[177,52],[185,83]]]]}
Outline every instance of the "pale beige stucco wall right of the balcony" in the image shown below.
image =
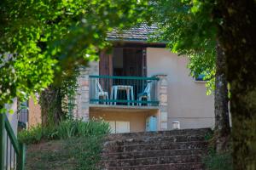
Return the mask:
{"type": "Polygon", "coordinates": [[[188,59],[165,48],[147,48],[148,77],[166,74],[168,81],[168,129],[179,121],[181,128],[213,127],[214,100],[205,83],[189,77],[188,59]]]}

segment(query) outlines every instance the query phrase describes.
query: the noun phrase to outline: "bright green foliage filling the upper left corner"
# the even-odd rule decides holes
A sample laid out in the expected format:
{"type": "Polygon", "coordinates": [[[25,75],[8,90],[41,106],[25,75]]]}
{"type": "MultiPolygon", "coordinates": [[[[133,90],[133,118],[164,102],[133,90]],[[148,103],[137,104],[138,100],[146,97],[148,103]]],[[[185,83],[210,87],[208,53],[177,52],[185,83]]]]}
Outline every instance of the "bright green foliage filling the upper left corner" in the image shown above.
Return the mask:
{"type": "Polygon", "coordinates": [[[147,4],[146,0],[3,0],[1,112],[13,98],[27,99],[48,87],[54,77],[61,80],[63,69],[73,71],[74,65],[97,59],[98,50],[108,46],[107,32],[141,21],[147,4]]]}

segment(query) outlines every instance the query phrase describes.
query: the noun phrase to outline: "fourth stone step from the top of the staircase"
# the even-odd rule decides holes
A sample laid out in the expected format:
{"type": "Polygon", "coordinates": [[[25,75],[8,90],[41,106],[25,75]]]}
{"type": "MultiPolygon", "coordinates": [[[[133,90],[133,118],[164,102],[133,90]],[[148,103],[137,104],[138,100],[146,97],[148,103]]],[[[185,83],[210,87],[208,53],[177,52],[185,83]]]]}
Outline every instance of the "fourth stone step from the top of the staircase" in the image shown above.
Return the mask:
{"type": "Polygon", "coordinates": [[[190,156],[190,155],[204,155],[206,150],[202,149],[181,149],[181,150],[147,150],[147,151],[131,151],[131,152],[117,152],[104,153],[102,160],[118,160],[129,158],[147,158],[157,156],[190,156]]]}

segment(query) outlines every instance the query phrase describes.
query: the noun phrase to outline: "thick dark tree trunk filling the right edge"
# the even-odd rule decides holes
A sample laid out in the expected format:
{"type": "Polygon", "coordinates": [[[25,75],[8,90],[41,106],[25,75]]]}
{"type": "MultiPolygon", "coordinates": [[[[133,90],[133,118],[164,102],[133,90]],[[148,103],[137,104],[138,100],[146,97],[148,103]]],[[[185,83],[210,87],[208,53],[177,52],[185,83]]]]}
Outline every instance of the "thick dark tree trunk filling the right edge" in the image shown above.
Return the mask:
{"type": "Polygon", "coordinates": [[[256,169],[256,1],[218,0],[227,57],[234,169],[256,169]]]}

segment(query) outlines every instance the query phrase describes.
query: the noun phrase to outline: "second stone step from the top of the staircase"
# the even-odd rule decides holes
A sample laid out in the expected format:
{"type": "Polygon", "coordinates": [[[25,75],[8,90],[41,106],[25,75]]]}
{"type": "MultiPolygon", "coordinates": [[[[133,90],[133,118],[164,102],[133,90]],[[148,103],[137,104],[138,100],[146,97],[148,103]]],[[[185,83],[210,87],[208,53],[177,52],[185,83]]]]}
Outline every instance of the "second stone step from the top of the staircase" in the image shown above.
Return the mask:
{"type": "Polygon", "coordinates": [[[173,135],[164,137],[144,137],[144,138],[134,138],[134,139],[117,139],[112,141],[106,141],[104,146],[108,145],[129,145],[129,144],[160,144],[169,142],[191,142],[191,141],[203,141],[205,140],[204,135],[173,135]]]}

